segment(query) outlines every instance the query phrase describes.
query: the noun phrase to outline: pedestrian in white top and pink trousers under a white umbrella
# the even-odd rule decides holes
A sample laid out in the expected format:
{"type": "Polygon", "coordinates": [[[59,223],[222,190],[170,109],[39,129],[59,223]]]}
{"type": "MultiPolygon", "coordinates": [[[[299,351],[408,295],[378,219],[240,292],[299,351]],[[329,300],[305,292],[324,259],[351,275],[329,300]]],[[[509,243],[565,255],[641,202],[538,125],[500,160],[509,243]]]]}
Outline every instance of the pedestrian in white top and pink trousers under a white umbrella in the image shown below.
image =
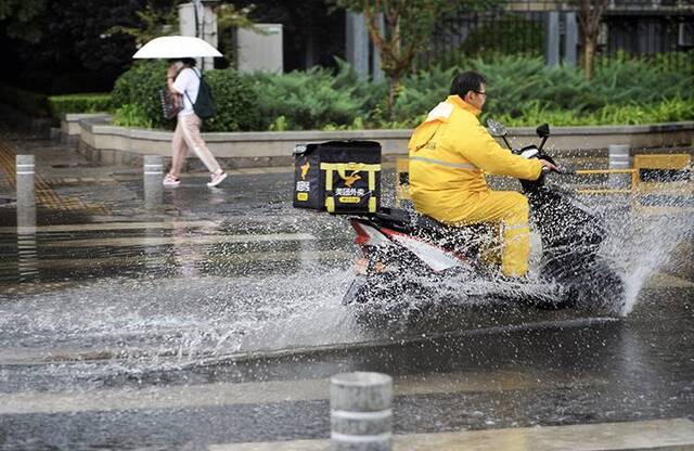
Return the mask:
{"type": "Polygon", "coordinates": [[[227,172],[219,166],[200,133],[203,119],[211,115],[211,95],[202,73],[195,67],[194,59],[222,55],[204,40],[187,36],[167,36],[153,39],[132,56],[134,59],[166,59],[170,62],[166,74],[167,89],[175,99],[178,99],[180,106],[177,109],[180,109],[171,140],[171,169],[164,178],[165,186],[178,186],[181,183],[179,176],[190,150],[210,172],[210,181],[207,186],[217,186],[227,178],[227,172]],[[180,102],[181,100],[182,102],[180,102]]]}

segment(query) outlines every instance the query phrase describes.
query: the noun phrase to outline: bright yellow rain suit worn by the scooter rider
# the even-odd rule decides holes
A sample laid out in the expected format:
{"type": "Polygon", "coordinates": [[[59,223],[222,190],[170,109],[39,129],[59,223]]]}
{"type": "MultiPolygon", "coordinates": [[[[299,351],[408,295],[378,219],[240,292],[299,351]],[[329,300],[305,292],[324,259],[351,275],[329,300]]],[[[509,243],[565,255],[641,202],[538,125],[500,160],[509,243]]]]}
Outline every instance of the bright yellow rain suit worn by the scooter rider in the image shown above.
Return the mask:
{"type": "Polygon", "coordinates": [[[485,172],[537,180],[542,165],[501,147],[479,124],[479,109],[458,95],[432,109],[412,134],[410,193],[417,211],[453,226],[499,222],[504,246],[501,270],[528,270],[528,201],[515,191],[492,191],[485,172]]]}

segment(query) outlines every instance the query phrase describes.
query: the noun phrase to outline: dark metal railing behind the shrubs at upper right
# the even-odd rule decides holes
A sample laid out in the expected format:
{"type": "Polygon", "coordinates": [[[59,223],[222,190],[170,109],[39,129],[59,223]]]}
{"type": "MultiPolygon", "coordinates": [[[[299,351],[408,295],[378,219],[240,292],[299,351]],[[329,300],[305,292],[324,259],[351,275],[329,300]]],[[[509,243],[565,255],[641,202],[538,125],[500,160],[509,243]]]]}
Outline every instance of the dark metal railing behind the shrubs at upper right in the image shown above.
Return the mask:
{"type": "MultiPolygon", "coordinates": [[[[461,9],[439,24],[430,52],[417,64],[451,67],[490,54],[541,56],[544,18],[553,11],[578,13],[578,2],[497,0],[461,9]]],[[[615,56],[657,59],[672,69],[694,70],[694,1],[612,0],[603,15],[595,63],[615,56]]]]}

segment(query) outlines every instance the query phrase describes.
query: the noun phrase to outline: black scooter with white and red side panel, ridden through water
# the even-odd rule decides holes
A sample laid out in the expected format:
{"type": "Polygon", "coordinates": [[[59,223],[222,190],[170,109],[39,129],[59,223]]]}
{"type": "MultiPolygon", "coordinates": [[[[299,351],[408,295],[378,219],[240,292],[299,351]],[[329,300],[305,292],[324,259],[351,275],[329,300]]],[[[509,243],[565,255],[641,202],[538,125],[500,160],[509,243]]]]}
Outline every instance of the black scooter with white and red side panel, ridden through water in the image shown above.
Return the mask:
{"type": "MultiPolygon", "coordinates": [[[[503,125],[490,120],[488,127],[512,149],[503,125]]],[[[538,127],[537,134],[542,139],[539,146],[512,152],[555,164],[543,150],[550,137],[549,125],[538,127]]],[[[564,169],[557,172],[573,173],[564,169]]],[[[615,299],[621,299],[624,283],[600,256],[601,243],[607,236],[601,217],[571,192],[547,183],[547,176],[543,171],[538,180],[520,180],[532,228],[542,245],[536,279],[515,282],[500,275],[498,226],[449,227],[415,211],[381,208],[375,214],[349,217],[362,255],[343,304],[388,305],[403,297],[432,301],[441,286],[464,292],[475,281],[498,281],[512,288],[502,291],[505,295],[501,297],[519,297],[542,308],[617,307],[615,299]]]]}

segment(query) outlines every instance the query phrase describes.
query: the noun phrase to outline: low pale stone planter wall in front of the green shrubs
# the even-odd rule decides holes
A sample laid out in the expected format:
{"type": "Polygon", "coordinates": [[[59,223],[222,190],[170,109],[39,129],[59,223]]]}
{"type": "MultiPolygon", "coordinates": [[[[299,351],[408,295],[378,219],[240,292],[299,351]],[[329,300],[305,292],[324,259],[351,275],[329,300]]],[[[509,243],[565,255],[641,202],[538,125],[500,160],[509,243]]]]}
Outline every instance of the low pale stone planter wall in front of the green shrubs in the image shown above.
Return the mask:
{"type": "MultiPolygon", "coordinates": [[[[101,164],[139,165],[143,155],[169,157],[172,132],[112,126],[106,114],[65,115],[61,139],[77,141],[79,151],[101,164]]],[[[330,140],[374,140],[383,147],[384,160],[407,154],[412,130],[339,131],[249,131],[203,133],[215,156],[229,168],[272,167],[293,164],[292,150],[297,143],[330,140]]],[[[510,129],[514,147],[536,144],[534,128],[510,129]]],[[[628,145],[639,153],[682,152],[694,141],[694,121],[642,126],[556,127],[550,147],[560,157],[606,156],[613,144],[628,145]]],[[[690,149],[690,153],[693,151],[690,149]]],[[[189,162],[192,158],[189,158],[189,162]]],[[[193,162],[191,162],[193,163],[193,162]]]]}

